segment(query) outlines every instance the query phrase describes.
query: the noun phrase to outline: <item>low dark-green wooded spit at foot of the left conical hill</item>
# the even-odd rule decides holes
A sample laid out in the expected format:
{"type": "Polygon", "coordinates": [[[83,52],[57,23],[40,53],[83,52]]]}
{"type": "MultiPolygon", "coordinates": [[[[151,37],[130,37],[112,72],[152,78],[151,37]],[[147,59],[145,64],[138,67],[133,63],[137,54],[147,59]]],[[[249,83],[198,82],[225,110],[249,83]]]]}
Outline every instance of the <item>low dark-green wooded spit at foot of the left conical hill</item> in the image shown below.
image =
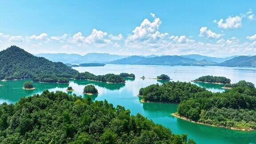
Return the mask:
{"type": "Polygon", "coordinates": [[[37,75],[37,76],[33,76],[32,80],[38,81],[38,82],[44,82],[44,83],[69,83],[68,78],[59,77],[56,75],[37,75]]]}

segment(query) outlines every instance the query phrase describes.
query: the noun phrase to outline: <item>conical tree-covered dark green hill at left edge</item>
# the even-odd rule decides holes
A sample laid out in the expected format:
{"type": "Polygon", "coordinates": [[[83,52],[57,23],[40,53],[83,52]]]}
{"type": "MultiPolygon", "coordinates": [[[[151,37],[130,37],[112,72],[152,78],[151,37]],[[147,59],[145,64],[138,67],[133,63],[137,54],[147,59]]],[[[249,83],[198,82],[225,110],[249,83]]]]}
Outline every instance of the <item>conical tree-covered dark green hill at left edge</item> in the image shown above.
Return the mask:
{"type": "Polygon", "coordinates": [[[36,57],[23,49],[11,46],[0,52],[0,79],[32,78],[38,74],[75,75],[76,70],[61,62],[36,57]]]}

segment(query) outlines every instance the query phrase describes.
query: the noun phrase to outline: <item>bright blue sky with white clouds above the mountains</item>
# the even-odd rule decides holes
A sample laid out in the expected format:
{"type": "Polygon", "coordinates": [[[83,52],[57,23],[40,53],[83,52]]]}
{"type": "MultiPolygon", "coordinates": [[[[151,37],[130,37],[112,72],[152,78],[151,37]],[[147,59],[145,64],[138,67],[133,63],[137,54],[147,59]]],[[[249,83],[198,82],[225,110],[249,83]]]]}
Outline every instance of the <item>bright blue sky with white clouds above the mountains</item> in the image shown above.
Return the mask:
{"type": "Polygon", "coordinates": [[[256,55],[256,0],[0,0],[0,50],[256,55]]]}

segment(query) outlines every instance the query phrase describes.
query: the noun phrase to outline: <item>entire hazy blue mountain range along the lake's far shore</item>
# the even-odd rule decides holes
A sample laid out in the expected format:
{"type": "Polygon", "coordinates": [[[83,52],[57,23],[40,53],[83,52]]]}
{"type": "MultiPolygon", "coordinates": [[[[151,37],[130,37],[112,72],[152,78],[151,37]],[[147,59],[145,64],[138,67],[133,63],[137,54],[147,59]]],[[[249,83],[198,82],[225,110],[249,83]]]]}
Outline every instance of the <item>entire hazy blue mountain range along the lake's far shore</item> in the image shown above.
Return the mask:
{"type": "Polygon", "coordinates": [[[43,53],[35,56],[48,60],[71,64],[102,63],[102,64],[156,64],[156,65],[219,65],[228,67],[255,67],[254,56],[229,56],[225,58],[202,56],[197,54],[181,56],[120,56],[108,53],[88,53],[84,56],[66,53],[43,53]]]}

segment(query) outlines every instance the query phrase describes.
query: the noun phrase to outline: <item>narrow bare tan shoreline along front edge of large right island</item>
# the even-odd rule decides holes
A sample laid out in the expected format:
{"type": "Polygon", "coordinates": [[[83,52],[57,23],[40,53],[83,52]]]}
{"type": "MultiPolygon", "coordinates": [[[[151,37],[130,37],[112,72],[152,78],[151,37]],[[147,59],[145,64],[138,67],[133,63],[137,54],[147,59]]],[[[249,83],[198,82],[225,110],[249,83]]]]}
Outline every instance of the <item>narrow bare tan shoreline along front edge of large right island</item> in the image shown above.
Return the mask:
{"type": "Polygon", "coordinates": [[[177,114],[177,113],[172,113],[172,116],[182,119],[182,120],[187,120],[192,123],[203,124],[203,125],[212,126],[212,127],[227,128],[227,129],[231,129],[231,130],[244,131],[244,132],[255,131],[255,129],[253,129],[253,128],[233,128],[233,127],[224,127],[224,126],[219,126],[219,125],[206,124],[206,123],[190,120],[184,116],[179,116],[179,114],[177,114]]]}

